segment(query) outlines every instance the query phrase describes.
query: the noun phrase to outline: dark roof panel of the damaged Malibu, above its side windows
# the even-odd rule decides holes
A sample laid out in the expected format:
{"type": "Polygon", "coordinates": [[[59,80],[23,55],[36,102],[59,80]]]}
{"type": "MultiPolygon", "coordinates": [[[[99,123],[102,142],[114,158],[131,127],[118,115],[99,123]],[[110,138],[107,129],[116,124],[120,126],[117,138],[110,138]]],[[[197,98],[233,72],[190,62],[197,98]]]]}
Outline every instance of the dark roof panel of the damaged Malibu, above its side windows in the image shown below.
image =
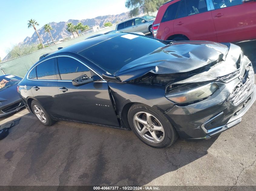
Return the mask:
{"type": "Polygon", "coordinates": [[[82,50],[87,49],[91,46],[94,46],[94,45],[104,42],[106,40],[110,40],[111,38],[115,38],[117,36],[124,35],[124,34],[128,34],[128,33],[111,33],[111,34],[93,37],[90,39],[83,40],[79,43],[75,43],[73,45],[67,46],[65,48],[62,48],[62,49],[56,51],[55,53],[62,53],[62,52],[79,53],[82,50]]]}

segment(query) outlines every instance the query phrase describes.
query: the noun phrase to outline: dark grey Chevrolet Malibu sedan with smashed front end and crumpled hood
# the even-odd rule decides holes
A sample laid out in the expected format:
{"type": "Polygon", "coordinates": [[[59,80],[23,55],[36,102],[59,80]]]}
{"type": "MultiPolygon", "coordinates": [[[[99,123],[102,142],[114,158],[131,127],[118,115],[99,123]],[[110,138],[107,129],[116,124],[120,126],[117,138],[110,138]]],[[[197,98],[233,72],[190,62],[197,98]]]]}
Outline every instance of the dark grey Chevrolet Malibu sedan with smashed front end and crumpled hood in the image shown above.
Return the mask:
{"type": "Polygon", "coordinates": [[[131,129],[155,148],[207,139],[238,124],[255,100],[240,47],[127,33],[94,37],[35,63],[18,84],[40,122],[131,129]]]}

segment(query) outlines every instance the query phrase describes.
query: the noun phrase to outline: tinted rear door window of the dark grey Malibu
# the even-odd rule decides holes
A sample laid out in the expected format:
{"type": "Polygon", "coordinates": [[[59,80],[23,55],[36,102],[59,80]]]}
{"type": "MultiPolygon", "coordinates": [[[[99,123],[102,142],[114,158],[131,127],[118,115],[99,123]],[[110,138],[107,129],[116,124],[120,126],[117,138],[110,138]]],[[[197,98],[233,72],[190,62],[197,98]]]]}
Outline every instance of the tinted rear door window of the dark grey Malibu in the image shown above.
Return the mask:
{"type": "Polygon", "coordinates": [[[54,58],[36,66],[38,80],[57,80],[54,58]]]}

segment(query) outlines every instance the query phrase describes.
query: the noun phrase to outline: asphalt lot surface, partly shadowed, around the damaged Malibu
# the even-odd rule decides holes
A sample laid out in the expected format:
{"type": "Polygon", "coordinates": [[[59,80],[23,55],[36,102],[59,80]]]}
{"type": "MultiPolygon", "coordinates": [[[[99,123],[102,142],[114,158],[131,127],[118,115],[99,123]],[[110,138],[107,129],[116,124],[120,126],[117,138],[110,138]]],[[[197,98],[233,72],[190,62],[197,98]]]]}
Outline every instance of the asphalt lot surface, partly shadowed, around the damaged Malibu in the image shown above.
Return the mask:
{"type": "MultiPolygon", "coordinates": [[[[256,41],[238,43],[256,71],[256,41]]],[[[256,104],[233,128],[209,140],[178,139],[167,149],[130,131],[60,121],[45,127],[22,110],[0,141],[0,185],[254,185],[256,104]]]]}

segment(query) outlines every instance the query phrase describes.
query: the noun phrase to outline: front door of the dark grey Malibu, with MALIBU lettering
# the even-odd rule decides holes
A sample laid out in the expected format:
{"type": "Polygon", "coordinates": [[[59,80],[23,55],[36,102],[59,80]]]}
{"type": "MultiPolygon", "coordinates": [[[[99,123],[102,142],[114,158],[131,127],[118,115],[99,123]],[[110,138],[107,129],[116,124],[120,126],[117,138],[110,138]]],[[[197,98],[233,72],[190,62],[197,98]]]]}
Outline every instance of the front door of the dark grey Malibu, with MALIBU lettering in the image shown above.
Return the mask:
{"type": "Polygon", "coordinates": [[[58,57],[59,95],[62,110],[69,112],[70,119],[78,122],[119,127],[111,103],[108,83],[92,72],[85,64],[71,57],[58,57]],[[75,86],[72,80],[79,76],[93,78],[93,81],[75,86]]]}

